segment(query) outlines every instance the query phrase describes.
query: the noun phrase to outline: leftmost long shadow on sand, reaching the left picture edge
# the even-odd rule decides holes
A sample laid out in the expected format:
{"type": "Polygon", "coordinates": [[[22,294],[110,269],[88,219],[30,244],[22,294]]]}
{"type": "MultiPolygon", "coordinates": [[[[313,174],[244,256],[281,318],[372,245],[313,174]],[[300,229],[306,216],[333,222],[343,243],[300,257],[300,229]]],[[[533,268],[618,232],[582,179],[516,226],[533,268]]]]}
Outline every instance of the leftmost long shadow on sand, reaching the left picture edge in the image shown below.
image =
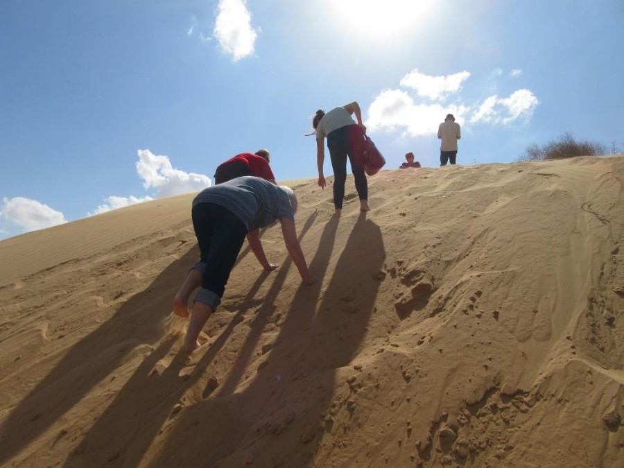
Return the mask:
{"type": "Polygon", "coordinates": [[[103,379],[114,378],[115,370],[136,347],[162,339],[176,288],[171,279],[184,278],[197,257],[197,248],[191,248],[145,291],[131,297],[112,318],[69,349],[2,424],[0,465],[79,404],[103,379]]]}

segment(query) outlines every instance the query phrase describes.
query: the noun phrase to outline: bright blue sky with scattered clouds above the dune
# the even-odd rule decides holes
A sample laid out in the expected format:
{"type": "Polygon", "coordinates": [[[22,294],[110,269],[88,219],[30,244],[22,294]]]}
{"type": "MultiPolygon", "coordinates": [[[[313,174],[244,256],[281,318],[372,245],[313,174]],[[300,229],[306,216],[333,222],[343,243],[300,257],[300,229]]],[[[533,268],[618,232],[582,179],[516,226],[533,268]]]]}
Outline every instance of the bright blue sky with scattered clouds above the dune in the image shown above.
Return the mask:
{"type": "Polygon", "coordinates": [[[259,148],[316,177],[303,134],[351,101],[386,168],[437,166],[447,112],[458,164],[564,132],[623,150],[623,24],[621,0],[0,0],[0,239],[199,191],[259,148]]]}

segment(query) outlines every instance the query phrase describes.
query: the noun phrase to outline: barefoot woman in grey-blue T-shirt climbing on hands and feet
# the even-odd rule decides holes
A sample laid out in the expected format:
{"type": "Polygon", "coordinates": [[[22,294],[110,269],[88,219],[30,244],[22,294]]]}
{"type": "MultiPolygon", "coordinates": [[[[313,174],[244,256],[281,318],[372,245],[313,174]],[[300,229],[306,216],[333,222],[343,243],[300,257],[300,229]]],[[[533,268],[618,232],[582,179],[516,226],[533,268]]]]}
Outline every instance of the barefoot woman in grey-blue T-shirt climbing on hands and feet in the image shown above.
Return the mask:
{"type": "Polygon", "coordinates": [[[299,270],[303,284],[309,286],[314,283],[297,239],[295,211],[297,196],[292,189],[277,187],[259,177],[238,177],[208,187],[196,196],[191,213],[200,261],[191,268],[173,299],[174,313],[187,318],[189,297],[195,288],[201,286],[193,301],[191,320],[184,337],[184,351],[191,352],[199,347],[197,338],[221,302],[245,236],[261,266],[267,271],[277,268],[266,258],[259,228],[279,220],[286,250],[299,270]]]}

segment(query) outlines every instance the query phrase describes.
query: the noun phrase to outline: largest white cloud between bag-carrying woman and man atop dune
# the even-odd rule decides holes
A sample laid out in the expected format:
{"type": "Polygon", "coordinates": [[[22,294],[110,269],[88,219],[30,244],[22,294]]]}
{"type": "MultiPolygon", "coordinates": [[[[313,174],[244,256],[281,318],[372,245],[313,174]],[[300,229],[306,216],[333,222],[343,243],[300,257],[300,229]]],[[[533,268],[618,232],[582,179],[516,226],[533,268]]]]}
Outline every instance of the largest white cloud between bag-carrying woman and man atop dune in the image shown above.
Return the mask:
{"type": "Polygon", "coordinates": [[[468,108],[460,104],[416,104],[406,92],[386,89],[374,98],[365,124],[370,130],[401,130],[406,137],[436,135],[449,112],[461,123],[468,108]]]}

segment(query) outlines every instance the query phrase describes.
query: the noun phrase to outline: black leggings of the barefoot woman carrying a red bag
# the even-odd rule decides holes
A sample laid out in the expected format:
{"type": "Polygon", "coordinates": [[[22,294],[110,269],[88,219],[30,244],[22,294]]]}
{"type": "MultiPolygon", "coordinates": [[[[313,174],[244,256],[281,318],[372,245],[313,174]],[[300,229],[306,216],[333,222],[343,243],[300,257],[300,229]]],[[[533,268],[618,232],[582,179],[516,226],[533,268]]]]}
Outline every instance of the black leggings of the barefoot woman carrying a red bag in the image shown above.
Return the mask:
{"type": "Polygon", "coordinates": [[[333,206],[343,207],[345,199],[345,182],[347,182],[347,157],[351,163],[351,171],[355,178],[356,191],[360,200],[368,200],[368,181],[361,161],[361,146],[364,134],[359,125],[346,125],[337,128],[327,135],[327,148],[333,168],[333,206]]]}

